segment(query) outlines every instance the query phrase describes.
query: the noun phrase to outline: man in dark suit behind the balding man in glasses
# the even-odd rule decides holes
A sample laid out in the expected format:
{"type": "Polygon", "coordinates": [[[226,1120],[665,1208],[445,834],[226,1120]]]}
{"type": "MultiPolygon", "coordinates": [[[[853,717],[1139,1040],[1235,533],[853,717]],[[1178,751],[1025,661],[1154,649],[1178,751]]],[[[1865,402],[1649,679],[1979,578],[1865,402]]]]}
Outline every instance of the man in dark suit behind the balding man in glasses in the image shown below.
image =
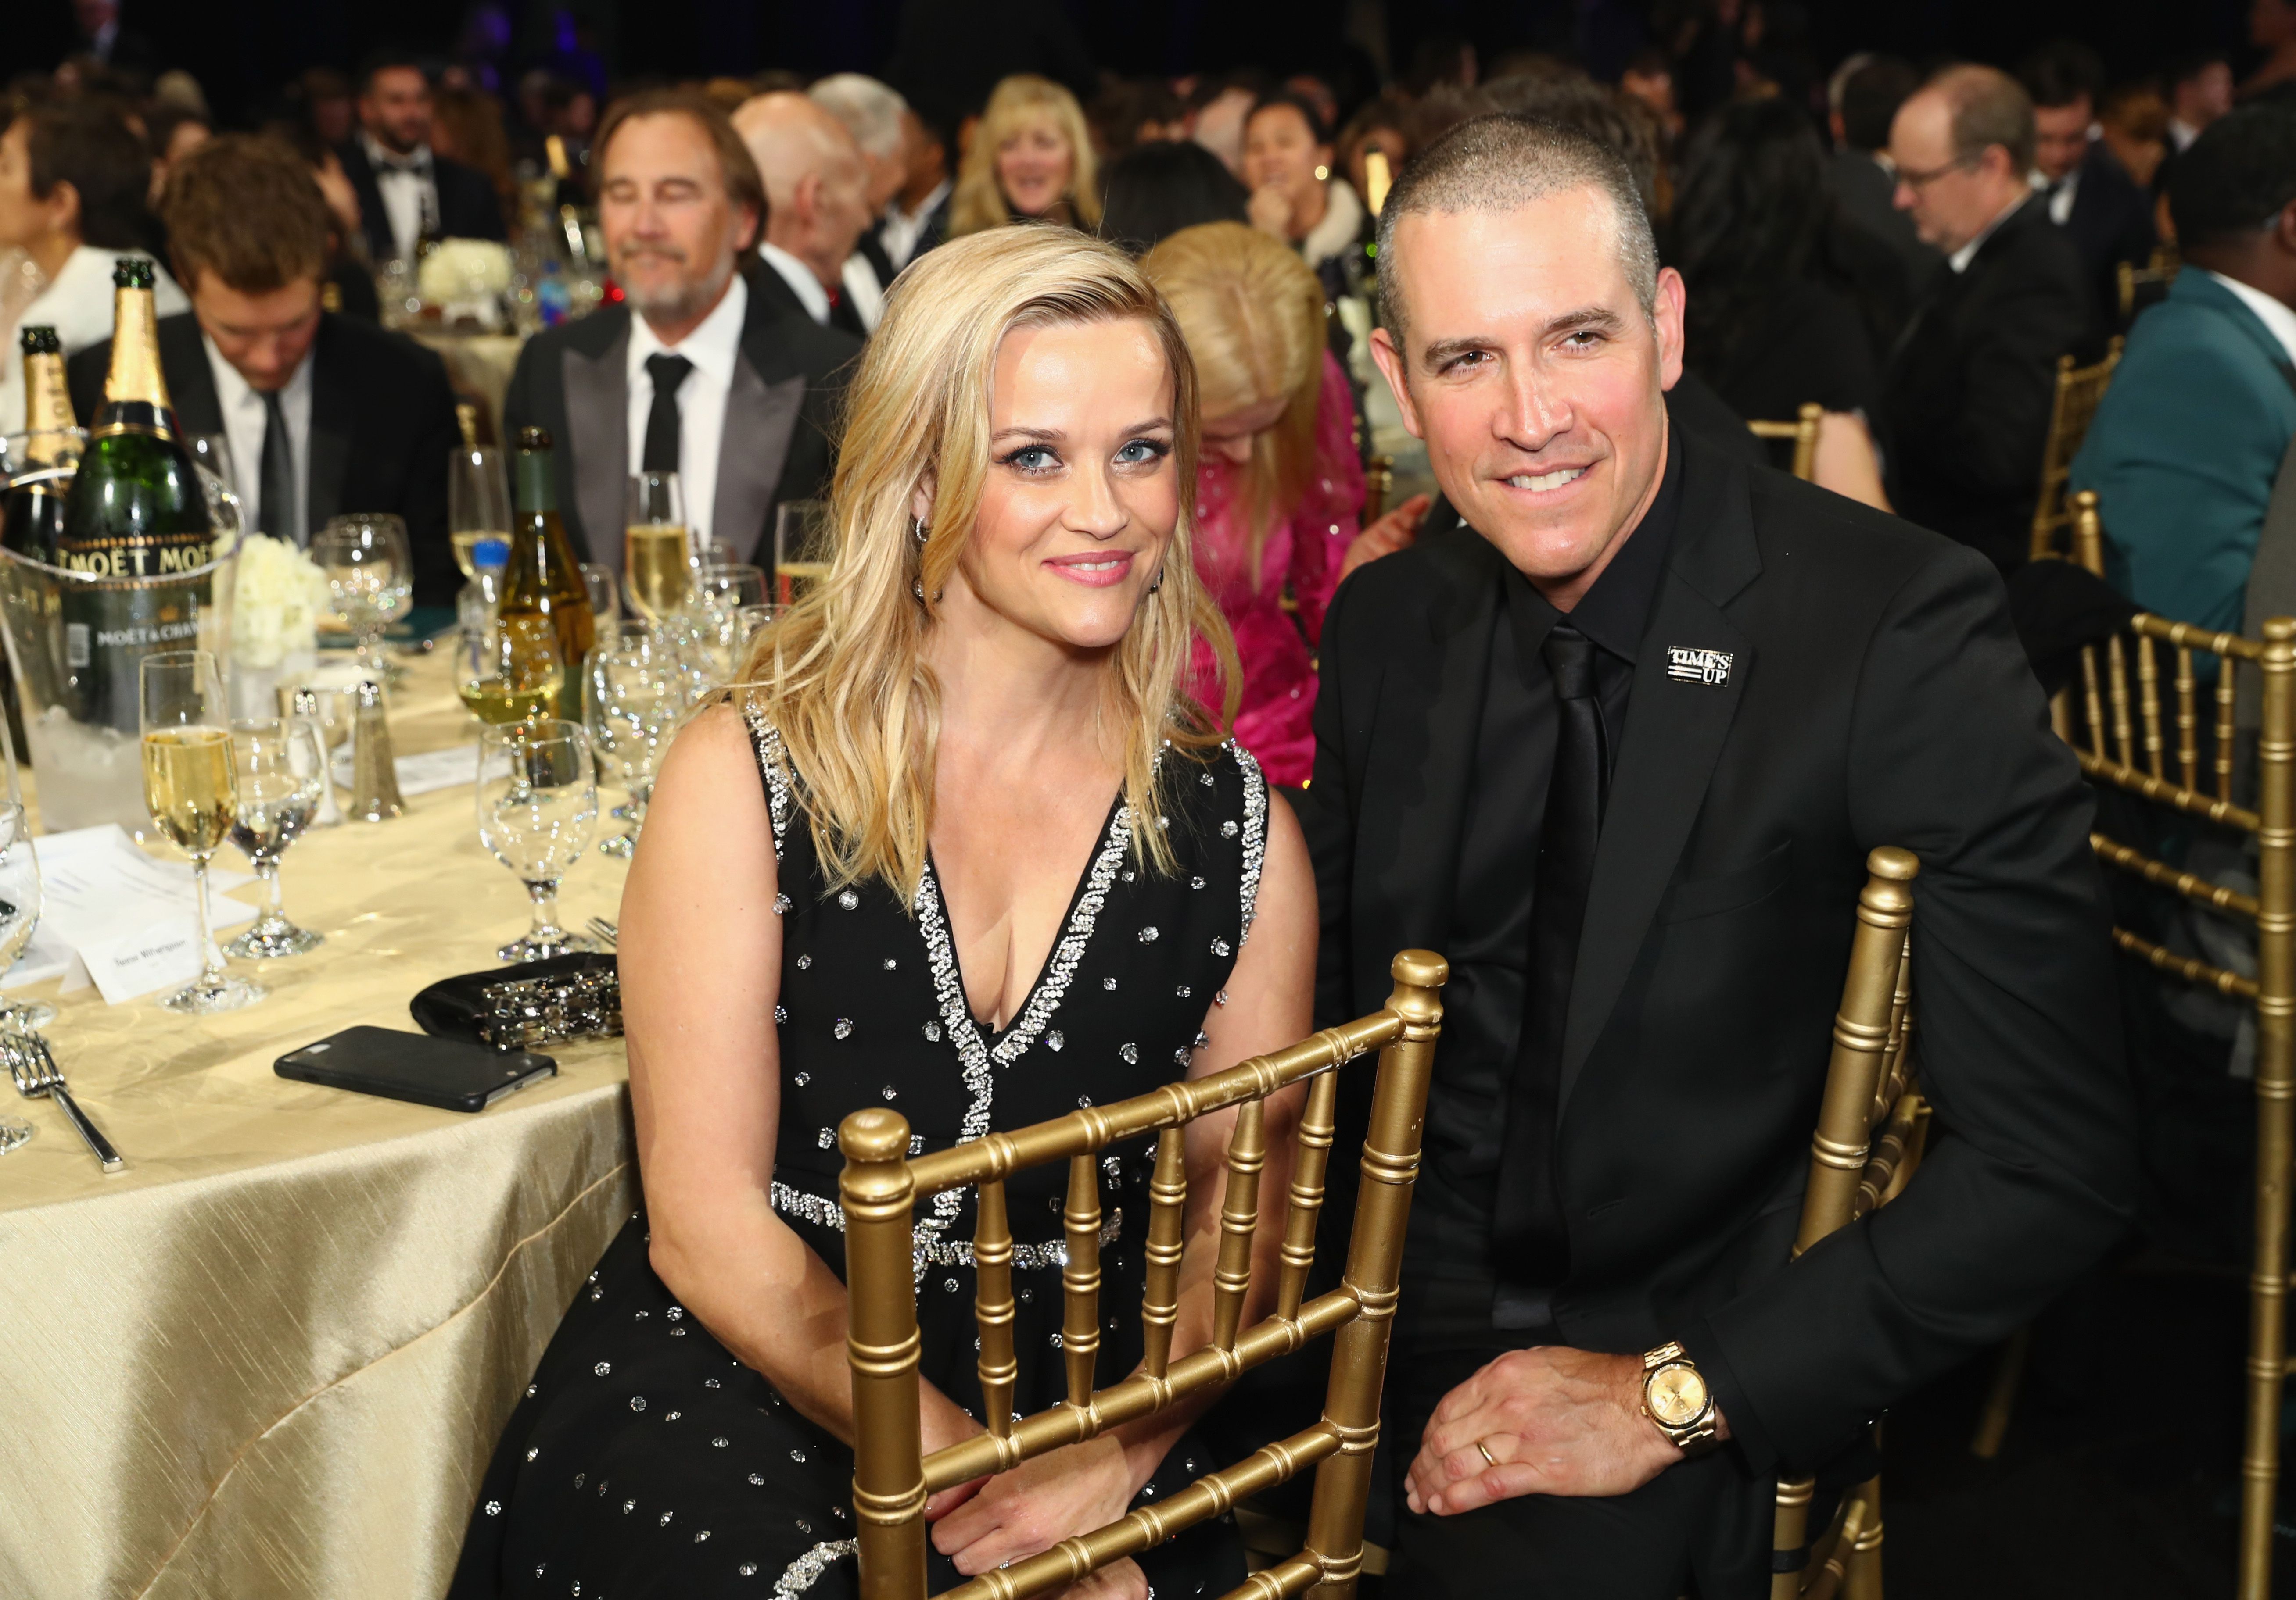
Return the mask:
{"type": "Polygon", "coordinates": [[[2089,301],[2110,319],[2119,301],[2117,266],[2151,259],[2154,225],[2147,195],[2096,129],[2096,94],[2105,67],[2096,51],[2071,39],[2039,48],[2018,69],[2032,96],[2032,186],[2048,202],[2048,220],[2080,250],[2089,301]]]}

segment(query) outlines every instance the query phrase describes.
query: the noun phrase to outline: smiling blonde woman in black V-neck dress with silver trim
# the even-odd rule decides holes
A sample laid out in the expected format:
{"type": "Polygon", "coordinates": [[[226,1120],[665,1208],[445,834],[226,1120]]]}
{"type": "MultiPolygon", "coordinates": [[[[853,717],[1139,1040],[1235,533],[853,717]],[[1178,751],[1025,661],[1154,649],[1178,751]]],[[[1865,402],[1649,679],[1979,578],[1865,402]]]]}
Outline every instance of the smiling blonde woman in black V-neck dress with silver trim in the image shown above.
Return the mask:
{"type": "MultiPolygon", "coordinates": [[[[664,764],[622,900],[645,1207],[510,1419],[455,1595],[852,1593],[838,1120],[891,1102],[934,1150],[1309,1031],[1306,847],[1182,689],[1199,634],[1233,682],[1194,411],[1180,331],[1097,241],[994,230],[902,275],[836,565],[664,764]]],[[[1279,1168],[1297,1104],[1270,1111],[1279,1168]]],[[[1189,1134],[1176,1354],[1210,1331],[1224,1141],[1189,1134]]],[[[1102,1164],[1102,1384],[1139,1361],[1148,1155],[1102,1164]]],[[[1013,1185],[1022,1409],[1061,1398],[1058,1189],[1013,1185]]],[[[957,1201],[918,1217],[928,1451],[980,1428],[957,1201]]],[[[934,1497],[934,1589],[1180,1488],[1210,1467],[1187,1421],[934,1497]]],[[[1238,1582],[1208,1524],[1070,1593],[1238,1582]]]]}

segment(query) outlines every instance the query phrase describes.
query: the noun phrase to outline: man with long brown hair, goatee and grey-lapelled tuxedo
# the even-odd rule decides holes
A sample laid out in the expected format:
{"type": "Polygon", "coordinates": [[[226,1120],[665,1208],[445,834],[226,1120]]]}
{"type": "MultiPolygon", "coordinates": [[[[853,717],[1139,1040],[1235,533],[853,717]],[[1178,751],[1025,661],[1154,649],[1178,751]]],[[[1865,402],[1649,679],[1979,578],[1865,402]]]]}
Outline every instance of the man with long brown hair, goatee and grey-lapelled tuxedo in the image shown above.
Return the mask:
{"type": "Polygon", "coordinates": [[[505,422],[558,443],[558,514],[585,560],[620,572],[629,475],[675,471],[693,537],[771,567],[774,507],[829,484],[836,386],[861,344],[781,314],[739,271],[765,186],[723,110],[634,94],[595,152],[599,232],[627,298],[519,351],[505,422]]]}

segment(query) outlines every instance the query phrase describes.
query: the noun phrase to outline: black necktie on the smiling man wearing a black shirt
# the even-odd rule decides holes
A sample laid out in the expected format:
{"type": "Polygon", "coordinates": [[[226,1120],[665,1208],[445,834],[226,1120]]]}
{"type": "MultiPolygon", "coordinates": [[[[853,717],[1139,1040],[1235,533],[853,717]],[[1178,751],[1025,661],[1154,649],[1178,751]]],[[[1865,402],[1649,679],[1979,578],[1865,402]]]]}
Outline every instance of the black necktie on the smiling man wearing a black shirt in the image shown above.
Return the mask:
{"type": "Polygon", "coordinates": [[[1570,1267],[1554,1175],[1554,1116],[1564,1019],[1570,1010],[1570,978],[1577,971],[1607,785],[1593,650],[1593,640],[1568,622],[1557,622],[1541,647],[1554,679],[1554,776],[1548,780],[1548,815],[1538,829],[1531,962],[1522,976],[1522,1035],[1515,1044],[1515,1077],[1506,1086],[1506,1134],[1490,1228],[1499,1279],[1492,1320],[1499,1327],[1548,1322],[1548,1295],[1570,1267]]]}

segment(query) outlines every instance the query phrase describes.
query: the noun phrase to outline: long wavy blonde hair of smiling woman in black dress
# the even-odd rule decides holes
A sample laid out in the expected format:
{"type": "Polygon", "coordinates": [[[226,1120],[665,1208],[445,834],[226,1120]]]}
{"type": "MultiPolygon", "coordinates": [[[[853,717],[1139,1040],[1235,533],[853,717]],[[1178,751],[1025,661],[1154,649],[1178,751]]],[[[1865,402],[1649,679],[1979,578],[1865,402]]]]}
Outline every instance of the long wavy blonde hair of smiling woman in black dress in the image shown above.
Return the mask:
{"type": "MultiPolygon", "coordinates": [[[[886,296],[847,390],[829,521],[829,574],[774,627],[744,668],[755,709],[797,771],[822,868],[833,884],[882,877],[914,904],[932,836],[941,689],[925,663],[934,597],[957,562],[990,473],[990,383],[1013,328],[1146,321],[1171,365],[1180,523],[1162,583],[1107,657],[1100,728],[1123,751],[1123,799],[1157,817],[1173,753],[1199,755],[1235,721],[1240,673],[1219,606],[1196,578],[1196,370],[1155,287],[1120,250],[1068,227],[999,227],[918,257],[886,296]],[[932,487],[918,542],[912,500],[932,487]],[[1187,693],[1194,640],[1219,661],[1215,719],[1187,693]]],[[[1162,829],[1132,831],[1137,859],[1169,872],[1162,829]]]]}

